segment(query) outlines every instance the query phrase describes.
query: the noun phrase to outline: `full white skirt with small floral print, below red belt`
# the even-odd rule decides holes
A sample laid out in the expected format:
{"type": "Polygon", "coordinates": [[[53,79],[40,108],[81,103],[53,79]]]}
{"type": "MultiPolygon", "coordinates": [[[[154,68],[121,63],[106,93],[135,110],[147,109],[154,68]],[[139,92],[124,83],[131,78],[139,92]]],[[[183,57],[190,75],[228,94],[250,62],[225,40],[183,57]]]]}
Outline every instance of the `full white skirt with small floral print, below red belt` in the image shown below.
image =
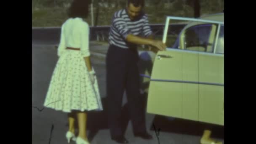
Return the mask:
{"type": "Polygon", "coordinates": [[[59,57],[43,105],[63,112],[103,110],[97,78],[93,84],[80,51],[59,57]]]}

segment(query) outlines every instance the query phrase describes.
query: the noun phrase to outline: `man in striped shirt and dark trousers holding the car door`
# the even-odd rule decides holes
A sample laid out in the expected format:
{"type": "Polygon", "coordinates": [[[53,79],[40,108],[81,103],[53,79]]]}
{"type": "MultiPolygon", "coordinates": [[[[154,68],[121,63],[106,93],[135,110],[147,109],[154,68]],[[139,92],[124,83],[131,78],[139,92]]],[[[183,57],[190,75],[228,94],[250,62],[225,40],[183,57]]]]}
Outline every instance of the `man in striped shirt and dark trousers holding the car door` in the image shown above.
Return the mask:
{"type": "Polygon", "coordinates": [[[148,17],[142,11],[144,0],[128,0],[127,8],[117,11],[112,19],[107,52],[108,124],[111,138],[128,143],[121,128],[121,108],[124,90],[127,93],[133,133],[142,139],[152,139],[146,131],[145,113],[139,92],[139,60],[136,45],[166,48],[161,41],[152,40],[148,17]]]}

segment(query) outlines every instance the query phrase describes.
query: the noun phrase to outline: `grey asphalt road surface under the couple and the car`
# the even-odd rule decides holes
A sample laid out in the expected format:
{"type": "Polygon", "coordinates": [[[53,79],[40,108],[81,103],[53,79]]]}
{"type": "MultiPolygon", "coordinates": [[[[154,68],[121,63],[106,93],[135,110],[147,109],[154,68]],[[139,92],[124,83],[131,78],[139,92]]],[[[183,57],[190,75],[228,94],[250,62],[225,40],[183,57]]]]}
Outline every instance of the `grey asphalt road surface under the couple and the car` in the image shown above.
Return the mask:
{"type": "MultiPolygon", "coordinates": [[[[48,84],[57,61],[56,48],[53,44],[56,42],[34,41],[32,43],[32,144],[67,144],[65,138],[65,133],[68,130],[67,115],[53,109],[43,109],[48,84]]],[[[91,49],[93,51],[101,47],[103,46],[92,45],[91,49]]],[[[96,56],[92,56],[91,61],[96,70],[101,98],[105,107],[105,61],[96,56]]],[[[147,99],[147,93],[141,96],[144,96],[145,100],[147,99]]],[[[124,115],[128,113],[126,102],[127,99],[124,95],[124,115]]],[[[88,138],[91,144],[116,144],[110,139],[106,120],[105,111],[88,114],[88,138]]],[[[123,126],[126,127],[125,137],[130,144],[158,144],[153,125],[156,129],[160,128],[160,144],[199,144],[205,128],[211,128],[213,138],[224,141],[224,127],[222,126],[146,114],[147,129],[154,138],[147,141],[133,136],[129,117],[123,117],[123,121],[123,126]]],[[[75,142],[72,143],[75,144],[75,142]]]]}

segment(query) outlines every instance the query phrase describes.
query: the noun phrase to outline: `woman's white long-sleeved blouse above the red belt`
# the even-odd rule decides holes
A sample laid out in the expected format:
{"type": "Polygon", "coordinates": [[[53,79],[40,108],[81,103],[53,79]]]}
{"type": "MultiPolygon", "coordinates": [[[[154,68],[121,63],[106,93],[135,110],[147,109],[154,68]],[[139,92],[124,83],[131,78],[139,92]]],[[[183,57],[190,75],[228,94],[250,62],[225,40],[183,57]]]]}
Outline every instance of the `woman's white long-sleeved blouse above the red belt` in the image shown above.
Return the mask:
{"type": "Polygon", "coordinates": [[[80,48],[81,56],[90,56],[89,25],[81,18],[69,18],[61,26],[61,38],[58,47],[58,56],[61,56],[67,47],[80,48]]]}

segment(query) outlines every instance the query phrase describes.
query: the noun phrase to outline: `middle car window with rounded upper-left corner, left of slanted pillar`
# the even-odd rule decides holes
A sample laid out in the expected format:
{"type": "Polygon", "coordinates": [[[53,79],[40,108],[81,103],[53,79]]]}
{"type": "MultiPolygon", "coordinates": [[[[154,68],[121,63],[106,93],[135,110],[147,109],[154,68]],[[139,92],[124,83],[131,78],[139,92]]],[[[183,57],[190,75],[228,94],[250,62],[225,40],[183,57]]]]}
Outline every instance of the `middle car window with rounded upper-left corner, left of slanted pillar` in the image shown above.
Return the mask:
{"type": "Polygon", "coordinates": [[[208,43],[212,24],[200,24],[190,27],[185,32],[185,49],[191,51],[208,51],[213,49],[213,44],[208,43]],[[209,48],[210,45],[210,48],[209,48]]]}

